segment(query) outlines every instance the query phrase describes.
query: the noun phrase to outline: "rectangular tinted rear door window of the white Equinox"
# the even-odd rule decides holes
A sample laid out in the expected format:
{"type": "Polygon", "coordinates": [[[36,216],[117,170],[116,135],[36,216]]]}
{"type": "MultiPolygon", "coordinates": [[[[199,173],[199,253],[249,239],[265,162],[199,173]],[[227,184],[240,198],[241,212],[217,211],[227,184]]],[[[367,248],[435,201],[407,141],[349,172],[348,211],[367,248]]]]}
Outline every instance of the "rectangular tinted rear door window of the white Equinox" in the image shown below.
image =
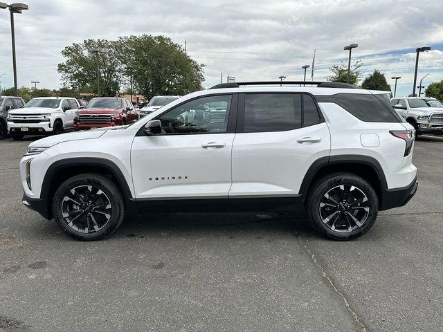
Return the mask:
{"type": "Polygon", "coordinates": [[[246,93],[244,132],[287,131],[302,126],[302,95],[246,93]]]}

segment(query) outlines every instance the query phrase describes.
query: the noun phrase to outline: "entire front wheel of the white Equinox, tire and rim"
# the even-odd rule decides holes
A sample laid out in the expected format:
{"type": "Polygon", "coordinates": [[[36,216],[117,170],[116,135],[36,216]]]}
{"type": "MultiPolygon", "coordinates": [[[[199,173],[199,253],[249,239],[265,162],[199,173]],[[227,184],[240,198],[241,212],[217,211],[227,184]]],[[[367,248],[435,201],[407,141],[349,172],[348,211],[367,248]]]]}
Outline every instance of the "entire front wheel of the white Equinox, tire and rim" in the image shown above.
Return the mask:
{"type": "Polygon", "coordinates": [[[108,237],[120,227],[125,219],[125,201],[110,178],[94,173],[79,174],[58,187],[53,198],[53,216],[70,237],[95,241],[108,237]],[[91,202],[93,204],[88,205],[91,202]]]}

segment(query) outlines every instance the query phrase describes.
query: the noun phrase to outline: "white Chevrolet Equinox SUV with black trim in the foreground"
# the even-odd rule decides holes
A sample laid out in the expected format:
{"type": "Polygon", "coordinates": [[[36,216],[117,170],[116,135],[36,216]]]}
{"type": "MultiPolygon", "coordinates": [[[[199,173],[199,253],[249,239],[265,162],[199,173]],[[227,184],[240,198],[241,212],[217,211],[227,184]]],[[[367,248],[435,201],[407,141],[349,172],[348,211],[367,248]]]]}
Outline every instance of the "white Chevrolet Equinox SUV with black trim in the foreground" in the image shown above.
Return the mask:
{"type": "Polygon", "coordinates": [[[415,194],[414,129],[387,92],[294,84],[220,84],[130,126],[37,140],[23,203],[83,240],[138,212],[213,210],[306,211],[329,238],[359,237],[415,194]]]}

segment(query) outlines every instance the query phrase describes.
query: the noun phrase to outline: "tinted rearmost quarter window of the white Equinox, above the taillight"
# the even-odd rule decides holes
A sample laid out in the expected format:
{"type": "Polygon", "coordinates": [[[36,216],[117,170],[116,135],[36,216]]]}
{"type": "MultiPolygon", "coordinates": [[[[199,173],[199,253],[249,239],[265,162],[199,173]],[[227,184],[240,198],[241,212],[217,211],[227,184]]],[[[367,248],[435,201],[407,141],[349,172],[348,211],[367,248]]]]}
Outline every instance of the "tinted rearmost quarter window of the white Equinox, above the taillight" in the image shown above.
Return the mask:
{"type": "Polygon", "coordinates": [[[337,93],[336,95],[317,95],[317,102],[334,102],[365,122],[399,122],[392,107],[387,107],[375,95],[361,93],[337,93]]]}

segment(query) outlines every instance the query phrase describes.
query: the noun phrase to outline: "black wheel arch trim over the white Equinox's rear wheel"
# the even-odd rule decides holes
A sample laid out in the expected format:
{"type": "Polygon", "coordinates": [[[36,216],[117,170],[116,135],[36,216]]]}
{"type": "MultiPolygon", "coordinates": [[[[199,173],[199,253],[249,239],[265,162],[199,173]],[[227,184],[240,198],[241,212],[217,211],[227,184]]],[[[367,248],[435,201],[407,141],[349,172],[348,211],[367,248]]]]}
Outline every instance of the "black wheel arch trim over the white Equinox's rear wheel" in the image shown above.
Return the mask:
{"type": "Polygon", "coordinates": [[[303,178],[303,181],[300,185],[299,194],[303,194],[304,196],[307,195],[311,184],[315,181],[316,174],[318,173],[318,171],[320,171],[321,168],[327,167],[329,165],[338,165],[341,163],[370,166],[379,177],[381,190],[388,189],[386,176],[383,172],[383,168],[381,168],[381,165],[377,161],[377,159],[370,156],[361,156],[355,154],[339,154],[334,156],[325,156],[315,160],[314,163],[311,164],[305,174],[305,177],[303,178]]]}

